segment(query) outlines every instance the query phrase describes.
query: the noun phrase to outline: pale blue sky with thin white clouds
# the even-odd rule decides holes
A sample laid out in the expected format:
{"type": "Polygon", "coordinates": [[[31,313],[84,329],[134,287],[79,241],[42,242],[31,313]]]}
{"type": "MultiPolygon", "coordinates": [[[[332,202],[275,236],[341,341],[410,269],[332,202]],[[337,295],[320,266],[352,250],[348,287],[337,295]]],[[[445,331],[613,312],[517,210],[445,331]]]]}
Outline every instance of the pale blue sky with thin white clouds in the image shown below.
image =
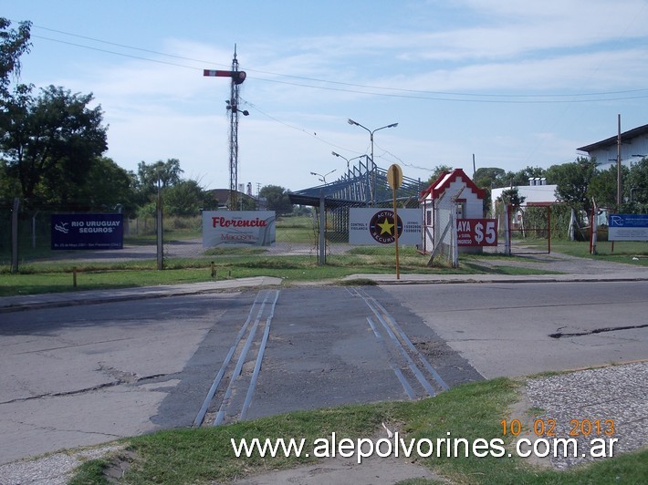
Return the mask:
{"type": "Polygon", "coordinates": [[[106,156],[178,159],[205,189],[229,188],[230,82],[203,70],[235,48],[238,182],[255,193],[336,180],[331,152],[371,154],[371,130],[381,168],[427,181],[549,168],[618,115],[648,124],[648,0],[3,0],[0,16],[33,24],[21,82],[92,93],[106,156]]]}

